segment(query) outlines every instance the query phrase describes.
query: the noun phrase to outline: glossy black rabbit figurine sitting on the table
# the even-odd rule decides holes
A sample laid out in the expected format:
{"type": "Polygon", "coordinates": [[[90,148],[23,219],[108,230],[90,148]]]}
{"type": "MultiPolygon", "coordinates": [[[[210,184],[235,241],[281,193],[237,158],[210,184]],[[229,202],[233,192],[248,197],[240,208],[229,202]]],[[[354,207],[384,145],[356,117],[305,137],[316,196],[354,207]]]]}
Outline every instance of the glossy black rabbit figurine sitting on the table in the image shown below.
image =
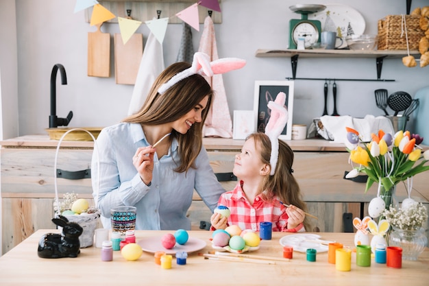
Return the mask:
{"type": "Polygon", "coordinates": [[[37,254],[42,258],[77,257],[80,253],[79,236],[84,229],[75,222],[59,215],[52,222],[62,227],[62,233],[47,233],[40,238],[37,254]]]}

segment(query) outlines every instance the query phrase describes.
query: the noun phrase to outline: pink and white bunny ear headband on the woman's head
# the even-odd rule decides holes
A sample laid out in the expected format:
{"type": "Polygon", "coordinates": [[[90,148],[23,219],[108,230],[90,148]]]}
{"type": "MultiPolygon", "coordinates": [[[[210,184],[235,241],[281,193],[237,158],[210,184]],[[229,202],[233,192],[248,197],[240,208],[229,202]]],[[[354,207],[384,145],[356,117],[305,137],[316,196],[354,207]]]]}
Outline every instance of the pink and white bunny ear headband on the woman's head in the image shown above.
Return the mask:
{"type": "Polygon", "coordinates": [[[164,94],[167,89],[171,88],[171,86],[191,75],[195,75],[195,73],[211,77],[219,73],[241,69],[245,64],[246,61],[241,60],[240,58],[220,58],[219,60],[210,62],[210,57],[206,53],[197,52],[194,54],[192,66],[189,69],[185,69],[184,71],[177,73],[168,82],[162,84],[158,89],[158,93],[164,94]]]}

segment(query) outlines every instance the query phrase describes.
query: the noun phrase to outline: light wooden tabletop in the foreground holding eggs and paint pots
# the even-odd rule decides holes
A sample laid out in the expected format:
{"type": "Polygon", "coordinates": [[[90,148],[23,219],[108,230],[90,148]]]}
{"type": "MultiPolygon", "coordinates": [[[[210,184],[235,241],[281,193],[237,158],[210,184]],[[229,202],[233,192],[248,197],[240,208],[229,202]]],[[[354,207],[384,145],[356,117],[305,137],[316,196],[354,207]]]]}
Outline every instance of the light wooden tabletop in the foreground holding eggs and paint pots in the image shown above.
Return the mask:
{"type": "MultiPolygon", "coordinates": [[[[275,265],[205,260],[191,253],[186,265],[164,270],[154,263],[154,255],[143,252],[137,261],[125,261],[114,252],[113,261],[101,261],[100,248],[82,248],[77,258],[41,259],[37,255],[38,241],[45,233],[38,230],[18,246],[0,257],[0,285],[428,285],[429,249],[417,261],[402,261],[402,269],[375,263],[358,267],[352,254],[352,271],[339,272],[328,263],[328,253],[318,253],[317,261],[306,261],[306,254],[293,252],[291,261],[276,261],[275,265]]],[[[168,231],[138,230],[136,238],[162,236],[168,231]]],[[[170,233],[173,233],[172,231],[170,233]]],[[[190,231],[190,237],[207,241],[199,252],[212,251],[206,230],[190,231]]],[[[247,254],[282,257],[279,239],[288,233],[273,233],[273,239],[261,241],[260,249],[247,254]]],[[[335,240],[353,247],[353,233],[319,233],[322,239],[335,240]]]]}

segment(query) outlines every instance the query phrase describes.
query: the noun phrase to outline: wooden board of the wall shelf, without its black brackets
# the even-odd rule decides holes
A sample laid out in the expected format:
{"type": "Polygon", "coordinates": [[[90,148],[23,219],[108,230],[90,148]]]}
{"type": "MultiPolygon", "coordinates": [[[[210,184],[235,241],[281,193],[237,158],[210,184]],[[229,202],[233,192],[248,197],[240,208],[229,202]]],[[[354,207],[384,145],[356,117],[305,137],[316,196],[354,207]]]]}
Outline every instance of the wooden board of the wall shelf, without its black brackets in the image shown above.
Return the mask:
{"type": "MultiPolygon", "coordinates": [[[[356,51],[352,49],[258,49],[256,51],[258,58],[291,58],[297,55],[302,58],[402,58],[408,56],[408,53],[407,51],[356,51]]],[[[417,50],[410,51],[410,55],[420,57],[417,50]]]]}

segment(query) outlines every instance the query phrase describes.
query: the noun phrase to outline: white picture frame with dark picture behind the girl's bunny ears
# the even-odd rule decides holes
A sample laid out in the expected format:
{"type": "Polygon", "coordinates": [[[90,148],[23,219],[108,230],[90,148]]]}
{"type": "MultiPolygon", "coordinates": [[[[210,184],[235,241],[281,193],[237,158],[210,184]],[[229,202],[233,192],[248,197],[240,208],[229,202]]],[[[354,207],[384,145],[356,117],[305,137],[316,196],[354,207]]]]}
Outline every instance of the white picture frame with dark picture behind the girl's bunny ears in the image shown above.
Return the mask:
{"type": "Polygon", "coordinates": [[[292,139],[293,118],[293,89],[294,82],[291,80],[256,80],[254,93],[254,121],[255,131],[265,132],[271,111],[267,107],[269,101],[274,101],[281,91],[286,94],[285,106],[288,110],[288,121],[279,139],[292,139]]]}

